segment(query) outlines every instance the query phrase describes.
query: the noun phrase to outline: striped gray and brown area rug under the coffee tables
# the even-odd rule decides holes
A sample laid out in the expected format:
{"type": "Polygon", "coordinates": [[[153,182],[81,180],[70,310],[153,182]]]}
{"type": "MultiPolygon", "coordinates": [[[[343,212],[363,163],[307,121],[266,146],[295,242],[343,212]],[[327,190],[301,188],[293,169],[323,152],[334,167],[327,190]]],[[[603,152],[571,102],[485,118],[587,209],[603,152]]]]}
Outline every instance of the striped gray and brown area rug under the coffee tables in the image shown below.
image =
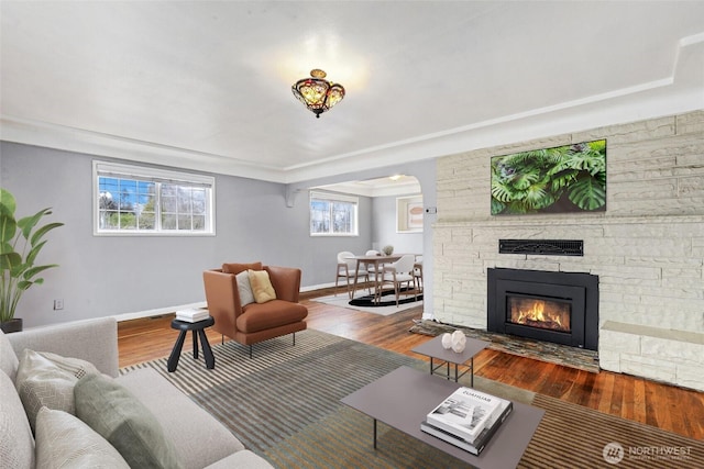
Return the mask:
{"type": "MultiPolygon", "coordinates": [[[[424,360],[311,330],[296,334],[295,346],[288,336],[257,344],[252,359],[233,342],[215,345],[213,351],[213,370],[206,369],[202,356],[194,360],[186,351],[173,373],[166,371],[166,358],[121,372],[156,369],[277,468],[466,467],[382,423],[374,450],[373,421],[340,403],[399,366],[427,371],[424,360]]],[[[481,377],[475,387],[546,410],[520,468],[704,467],[702,442],[481,377]],[[604,459],[608,444],[608,457],[618,457],[622,448],[616,466],[604,459]]]]}

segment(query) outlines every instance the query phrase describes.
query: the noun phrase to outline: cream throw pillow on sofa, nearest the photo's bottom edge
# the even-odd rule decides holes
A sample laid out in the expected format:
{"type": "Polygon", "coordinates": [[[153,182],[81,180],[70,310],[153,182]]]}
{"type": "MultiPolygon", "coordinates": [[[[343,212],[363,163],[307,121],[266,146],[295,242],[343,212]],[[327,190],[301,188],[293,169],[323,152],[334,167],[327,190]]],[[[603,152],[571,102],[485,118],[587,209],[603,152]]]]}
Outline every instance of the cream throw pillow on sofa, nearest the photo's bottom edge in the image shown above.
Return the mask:
{"type": "Polygon", "coordinates": [[[35,446],[36,469],[130,468],[102,436],[63,411],[40,409],[35,446]]]}

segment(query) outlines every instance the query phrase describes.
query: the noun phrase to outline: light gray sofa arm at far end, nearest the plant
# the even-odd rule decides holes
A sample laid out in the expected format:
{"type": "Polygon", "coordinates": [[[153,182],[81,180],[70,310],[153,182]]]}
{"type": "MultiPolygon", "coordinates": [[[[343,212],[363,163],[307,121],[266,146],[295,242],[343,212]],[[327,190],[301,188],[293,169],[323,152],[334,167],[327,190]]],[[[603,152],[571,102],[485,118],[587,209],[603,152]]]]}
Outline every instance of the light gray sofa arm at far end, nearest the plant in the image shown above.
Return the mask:
{"type": "Polygon", "coordinates": [[[80,358],[90,361],[106,375],[117,377],[118,323],[114,317],[76,321],[50,326],[28,328],[8,334],[18,356],[29,348],[36,351],[51,351],[64,357],[80,358]]]}

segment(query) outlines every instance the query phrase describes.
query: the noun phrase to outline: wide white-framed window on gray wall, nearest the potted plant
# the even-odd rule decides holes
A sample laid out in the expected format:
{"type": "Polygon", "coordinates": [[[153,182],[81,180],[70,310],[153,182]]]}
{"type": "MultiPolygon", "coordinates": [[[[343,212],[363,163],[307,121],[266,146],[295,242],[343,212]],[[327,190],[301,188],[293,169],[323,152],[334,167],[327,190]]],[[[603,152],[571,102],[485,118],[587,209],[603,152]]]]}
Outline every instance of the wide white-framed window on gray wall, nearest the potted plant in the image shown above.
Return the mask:
{"type": "Polygon", "coordinates": [[[211,176],[92,163],[96,235],[213,235],[211,176]]]}

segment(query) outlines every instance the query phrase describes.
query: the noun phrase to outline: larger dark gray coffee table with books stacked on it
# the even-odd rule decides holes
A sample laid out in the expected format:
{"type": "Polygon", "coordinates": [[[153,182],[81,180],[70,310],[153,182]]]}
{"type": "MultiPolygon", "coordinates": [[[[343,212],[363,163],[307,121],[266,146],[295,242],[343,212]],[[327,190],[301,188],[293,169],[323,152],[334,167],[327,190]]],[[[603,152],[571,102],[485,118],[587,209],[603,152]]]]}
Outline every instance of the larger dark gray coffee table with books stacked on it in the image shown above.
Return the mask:
{"type": "Polygon", "coordinates": [[[461,386],[400,367],[353,392],[341,402],[477,468],[515,468],[530,443],[544,411],[514,402],[514,410],[484,450],[474,456],[420,429],[428,412],[461,386]]]}

